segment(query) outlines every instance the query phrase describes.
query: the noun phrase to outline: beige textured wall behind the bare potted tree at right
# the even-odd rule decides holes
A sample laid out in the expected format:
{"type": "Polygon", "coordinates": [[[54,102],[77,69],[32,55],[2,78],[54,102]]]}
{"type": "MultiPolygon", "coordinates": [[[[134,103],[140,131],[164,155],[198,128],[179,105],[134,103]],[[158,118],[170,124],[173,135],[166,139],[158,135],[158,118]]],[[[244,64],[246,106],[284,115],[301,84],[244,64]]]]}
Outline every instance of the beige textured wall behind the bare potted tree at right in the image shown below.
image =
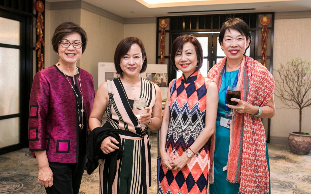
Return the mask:
{"type": "MultiPolygon", "coordinates": [[[[286,64],[292,58],[300,57],[311,61],[311,18],[275,20],[273,69],[286,64]]],[[[276,71],[273,71],[278,79],[276,71]]],[[[276,115],[271,120],[271,137],[285,138],[291,131],[299,130],[299,111],[282,108],[282,102],[275,97],[276,115]]],[[[311,132],[311,108],[302,111],[302,131],[311,132]]],[[[271,142],[273,143],[273,142],[271,142]]]]}

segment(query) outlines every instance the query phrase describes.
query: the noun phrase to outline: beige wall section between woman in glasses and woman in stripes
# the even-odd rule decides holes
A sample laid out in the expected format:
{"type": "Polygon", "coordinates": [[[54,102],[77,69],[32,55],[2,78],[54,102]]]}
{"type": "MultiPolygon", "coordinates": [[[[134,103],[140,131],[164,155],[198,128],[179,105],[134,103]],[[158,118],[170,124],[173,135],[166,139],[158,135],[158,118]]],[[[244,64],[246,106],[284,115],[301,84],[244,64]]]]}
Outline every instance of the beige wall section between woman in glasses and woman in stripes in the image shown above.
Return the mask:
{"type": "Polygon", "coordinates": [[[123,24],[82,9],[81,27],[86,30],[88,42],[80,67],[93,75],[96,91],[98,62],[114,62],[114,50],[123,38],[123,24]]]}

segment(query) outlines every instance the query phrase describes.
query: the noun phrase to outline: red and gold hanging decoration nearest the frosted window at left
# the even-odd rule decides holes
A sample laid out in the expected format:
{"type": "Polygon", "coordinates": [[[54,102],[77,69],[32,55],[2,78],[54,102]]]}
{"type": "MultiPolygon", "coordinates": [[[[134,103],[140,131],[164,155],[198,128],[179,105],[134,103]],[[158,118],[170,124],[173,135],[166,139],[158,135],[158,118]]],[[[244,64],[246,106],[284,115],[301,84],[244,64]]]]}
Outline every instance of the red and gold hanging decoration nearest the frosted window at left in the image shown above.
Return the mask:
{"type": "Polygon", "coordinates": [[[44,46],[43,40],[43,32],[42,29],[44,28],[43,25],[43,16],[42,12],[44,11],[44,4],[42,1],[37,0],[35,2],[35,9],[38,12],[37,14],[37,21],[36,21],[36,28],[37,28],[37,35],[38,39],[35,45],[35,50],[38,50],[37,58],[38,58],[38,71],[44,69],[44,62],[43,62],[43,53],[41,52],[41,47],[44,46]]]}

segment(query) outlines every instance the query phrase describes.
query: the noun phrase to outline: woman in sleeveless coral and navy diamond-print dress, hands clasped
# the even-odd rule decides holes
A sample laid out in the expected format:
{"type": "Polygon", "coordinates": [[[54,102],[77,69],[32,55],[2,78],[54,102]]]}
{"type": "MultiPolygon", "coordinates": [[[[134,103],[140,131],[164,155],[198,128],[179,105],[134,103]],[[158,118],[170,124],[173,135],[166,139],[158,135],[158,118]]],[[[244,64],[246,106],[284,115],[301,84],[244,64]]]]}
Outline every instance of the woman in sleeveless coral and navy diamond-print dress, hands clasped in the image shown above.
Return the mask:
{"type": "Polygon", "coordinates": [[[202,76],[202,47],[193,35],[172,45],[173,67],[182,77],[169,84],[160,130],[159,193],[207,193],[211,135],[215,131],[217,86],[202,76]],[[173,83],[174,82],[174,83],[173,83]]]}

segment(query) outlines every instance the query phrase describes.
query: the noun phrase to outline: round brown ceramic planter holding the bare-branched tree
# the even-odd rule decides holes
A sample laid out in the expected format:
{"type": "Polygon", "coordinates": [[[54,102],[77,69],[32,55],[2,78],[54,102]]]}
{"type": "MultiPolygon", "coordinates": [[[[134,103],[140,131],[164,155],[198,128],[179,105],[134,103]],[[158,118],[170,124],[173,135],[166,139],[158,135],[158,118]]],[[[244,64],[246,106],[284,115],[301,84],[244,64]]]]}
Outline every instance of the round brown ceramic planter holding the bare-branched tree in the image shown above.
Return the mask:
{"type": "Polygon", "coordinates": [[[311,134],[299,134],[299,132],[291,132],[288,137],[290,151],[294,154],[305,155],[311,150],[311,134]]]}

